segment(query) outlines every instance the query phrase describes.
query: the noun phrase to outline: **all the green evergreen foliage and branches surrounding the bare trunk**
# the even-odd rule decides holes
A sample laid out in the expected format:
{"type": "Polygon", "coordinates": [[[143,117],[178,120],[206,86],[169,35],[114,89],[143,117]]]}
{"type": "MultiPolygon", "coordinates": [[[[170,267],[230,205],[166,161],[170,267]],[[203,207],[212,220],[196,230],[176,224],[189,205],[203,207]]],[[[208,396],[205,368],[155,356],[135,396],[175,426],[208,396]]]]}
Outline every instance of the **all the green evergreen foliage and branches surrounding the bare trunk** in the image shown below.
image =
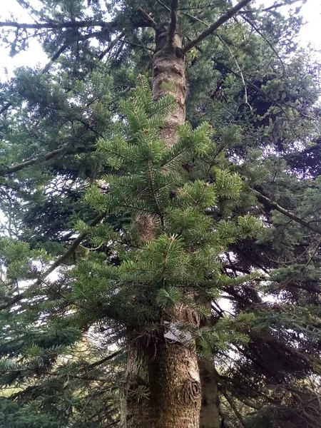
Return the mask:
{"type": "MultiPolygon", "coordinates": [[[[215,361],[228,427],[318,427],[320,67],[299,14],[248,6],[188,52],[168,147],[137,11],[167,4],[41,3],[21,2],[44,27],[0,24],[12,55],[34,36],[51,58],[0,88],[0,426],[119,426],[128,340],[169,329],[215,361]]],[[[225,11],[181,1],[180,34],[225,11]]]]}

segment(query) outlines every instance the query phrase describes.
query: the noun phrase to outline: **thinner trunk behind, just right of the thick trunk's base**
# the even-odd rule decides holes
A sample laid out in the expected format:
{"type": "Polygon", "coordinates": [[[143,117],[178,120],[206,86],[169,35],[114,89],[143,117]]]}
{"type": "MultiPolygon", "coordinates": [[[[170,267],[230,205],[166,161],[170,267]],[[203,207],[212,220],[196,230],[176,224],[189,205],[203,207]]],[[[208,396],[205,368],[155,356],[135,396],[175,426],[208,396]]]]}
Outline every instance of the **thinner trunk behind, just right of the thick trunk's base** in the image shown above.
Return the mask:
{"type": "Polygon", "coordinates": [[[202,385],[202,406],[200,428],[220,428],[220,399],[215,368],[210,362],[199,361],[200,383],[202,385]]]}

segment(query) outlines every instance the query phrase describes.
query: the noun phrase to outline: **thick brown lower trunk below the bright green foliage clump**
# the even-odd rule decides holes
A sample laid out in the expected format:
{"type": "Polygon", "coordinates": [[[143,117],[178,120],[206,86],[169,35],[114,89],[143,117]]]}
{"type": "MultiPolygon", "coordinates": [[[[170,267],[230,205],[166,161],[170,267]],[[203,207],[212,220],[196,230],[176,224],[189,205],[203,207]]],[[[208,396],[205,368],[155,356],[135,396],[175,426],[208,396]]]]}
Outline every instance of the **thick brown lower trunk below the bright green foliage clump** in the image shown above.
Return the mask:
{"type": "Polygon", "coordinates": [[[163,338],[132,342],[124,398],[124,428],[199,428],[195,352],[163,338]]]}

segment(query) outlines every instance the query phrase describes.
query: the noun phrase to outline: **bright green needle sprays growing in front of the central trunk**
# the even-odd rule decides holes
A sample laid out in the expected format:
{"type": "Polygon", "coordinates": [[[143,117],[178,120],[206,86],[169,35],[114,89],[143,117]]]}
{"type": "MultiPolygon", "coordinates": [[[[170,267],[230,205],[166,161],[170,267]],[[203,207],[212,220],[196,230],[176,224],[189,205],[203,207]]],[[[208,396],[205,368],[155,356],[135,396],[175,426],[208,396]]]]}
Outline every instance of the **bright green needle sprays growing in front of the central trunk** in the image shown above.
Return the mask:
{"type": "MultiPolygon", "coordinates": [[[[243,182],[238,174],[215,165],[208,123],[195,129],[185,123],[178,143],[165,145],[160,137],[162,121],[174,108],[170,96],[154,102],[147,79],[139,76],[122,105],[121,132],[99,141],[99,150],[115,173],[103,177],[104,190],[93,185],[85,197],[91,208],[130,213],[132,221],[118,237],[108,227],[102,233],[103,225],[91,230],[95,243],[96,233],[112,242],[115,251],[125,244],[128,250],[118,252],[118,267],[102,267],[94,255],[78,264],[70,272],[73,299],[77,305],[99,302],[106,320],[125,329],[150,331],[170,307],[184,304],[195,309],[202,293],[210,296],[223,284],[233,286],[233,279],[221,272],[220,254],[228,244],[255,235],[261,227],[250,215],[237,222],[215,223],[207,214],[220,198],[237,200],[243,182]],[[190,159],[200,163],[210,159],[213,179],[190,180],[183,168],[190,159]],[[148,240],[138,232],[142,217],[148,219],[146,228],[151,228],[148,240]],[[187,295],[194,297],[188,300],[187,295]]],[[[235,285],[239,282],[235,279],[235,285]]],[[[198,310],[203,314],[205,308],[198,310]]]]}

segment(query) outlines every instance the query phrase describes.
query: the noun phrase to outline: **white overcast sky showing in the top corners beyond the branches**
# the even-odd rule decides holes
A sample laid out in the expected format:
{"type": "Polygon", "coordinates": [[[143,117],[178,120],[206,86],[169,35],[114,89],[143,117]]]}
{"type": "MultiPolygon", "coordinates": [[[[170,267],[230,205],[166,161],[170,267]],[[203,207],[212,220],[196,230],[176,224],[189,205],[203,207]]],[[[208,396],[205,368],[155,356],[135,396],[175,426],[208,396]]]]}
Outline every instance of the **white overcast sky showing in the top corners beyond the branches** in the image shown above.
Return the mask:
{"type": "MultiPolygon", "coordinates": [[[[32,22],[31,17],[26,13],[26,11],[18,4],[16,0],[11,1],[1,1],[1,10],[0,10],[0,21],[11,18],[11,14],[15,17],[18,17],[19,20],[24,22],[32,22]]],[[[41,4],[41,1],[34,0],[34,4],[41,4]]],[[[270,6],[273,4],[272,0],[257,0],[256,4],[264,4],[265,6],[270,6]]],[[[300,3],[294,4],[295,7],[300,3]]],[[[307,21],[306,26],[302,29],[300,34],[300,43],[302,46],[307,46],[307,44],[312,44],[321,52],[321,1],[320,0],[307,0],[307,3],[302,6],[302,15],[304,16],[305,21],[307,21]]],[[[321,55],[321,54],[320,54],[321,55]]],[[[36,64],[41,63],[45,64],[48,61],[48,58],[41,50],[41,47],[36,43],[36,41],[31,42],[29,50],[22,52],[19,55],[14,56],[14,58],[9,57],[9,50],[4,49],[1,46],[0,41],[0,80],[4,81],[7,76],[12,76],[14,68],[16,66],[36,66],[36,64]]]]}

